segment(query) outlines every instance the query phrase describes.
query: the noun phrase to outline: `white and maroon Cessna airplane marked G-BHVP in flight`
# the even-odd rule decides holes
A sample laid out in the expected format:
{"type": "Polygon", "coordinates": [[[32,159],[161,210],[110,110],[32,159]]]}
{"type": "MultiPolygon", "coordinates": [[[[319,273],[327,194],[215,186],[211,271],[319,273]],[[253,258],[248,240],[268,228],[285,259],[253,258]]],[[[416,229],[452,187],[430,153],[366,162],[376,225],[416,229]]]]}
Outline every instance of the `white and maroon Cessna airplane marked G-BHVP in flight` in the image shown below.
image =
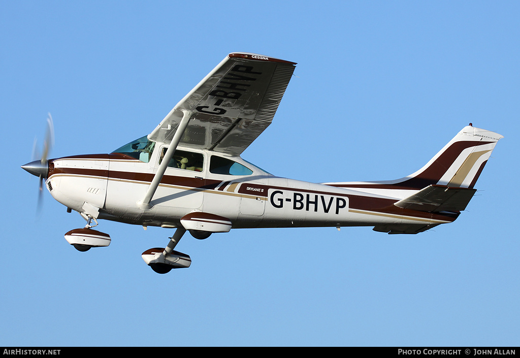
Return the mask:
{"type": "Polygon", "coordinates": [[[49,115],[42,158],[21,168],[86,220],[64,235],[79,251],[110,245],[110,235],[93,229],[98,220],[175,228],[165,248],[141,255],[160,274],[190,266],[174,250],[186,232],[206,239],[231,228],[372,226],[418,234],[458,218],[503,138],[471,123],[421,169],[392,181],[309,183],[242,159],[274,118],[295,65],[231,53],[150,134],[110,154],[47,160],[49,115]]]}

